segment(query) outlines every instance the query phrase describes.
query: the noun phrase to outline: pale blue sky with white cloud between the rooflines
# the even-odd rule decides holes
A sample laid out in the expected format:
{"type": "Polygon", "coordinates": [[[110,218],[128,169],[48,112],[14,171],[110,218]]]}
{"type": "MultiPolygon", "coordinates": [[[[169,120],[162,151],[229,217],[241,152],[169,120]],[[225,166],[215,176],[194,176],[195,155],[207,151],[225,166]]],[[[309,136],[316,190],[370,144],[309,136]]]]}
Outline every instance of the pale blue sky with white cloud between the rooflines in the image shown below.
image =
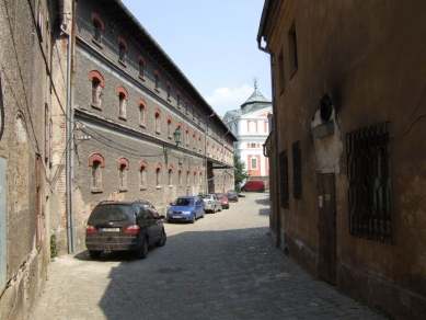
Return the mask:
{"type": "Polygon", "coordinates": [[[122,0],[216,113],[258,90],[270,100],[269,56],[257,48],[264,0],[122,0]]]}

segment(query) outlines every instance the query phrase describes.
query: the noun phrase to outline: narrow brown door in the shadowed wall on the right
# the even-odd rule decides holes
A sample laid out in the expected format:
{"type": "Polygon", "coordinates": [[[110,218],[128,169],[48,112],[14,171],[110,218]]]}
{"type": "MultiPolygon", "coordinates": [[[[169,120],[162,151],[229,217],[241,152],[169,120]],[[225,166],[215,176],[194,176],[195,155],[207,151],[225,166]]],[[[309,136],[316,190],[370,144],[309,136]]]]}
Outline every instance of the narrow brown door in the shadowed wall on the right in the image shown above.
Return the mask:
{"type": "Polygon", "coordinates": [[[336,202],[334,173],[318,174],[318,230],[320,277],[335,285],[336,275],[336,202]]]}

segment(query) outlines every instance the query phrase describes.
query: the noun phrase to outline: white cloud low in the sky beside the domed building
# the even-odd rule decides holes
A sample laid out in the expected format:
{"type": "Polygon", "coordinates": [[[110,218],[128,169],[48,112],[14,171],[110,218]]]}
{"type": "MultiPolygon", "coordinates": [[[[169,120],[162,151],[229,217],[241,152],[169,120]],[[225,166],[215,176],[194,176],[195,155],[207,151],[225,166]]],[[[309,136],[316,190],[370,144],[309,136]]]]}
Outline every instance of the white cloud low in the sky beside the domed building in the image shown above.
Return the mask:
{"type": "Polygon", "coordinates": [[[247,84],[234,89],[218,88],[206,100],[218,115],[223,116],[228,111],[240,108],[252,95],[253,90],[253,87],[247,84]]]}

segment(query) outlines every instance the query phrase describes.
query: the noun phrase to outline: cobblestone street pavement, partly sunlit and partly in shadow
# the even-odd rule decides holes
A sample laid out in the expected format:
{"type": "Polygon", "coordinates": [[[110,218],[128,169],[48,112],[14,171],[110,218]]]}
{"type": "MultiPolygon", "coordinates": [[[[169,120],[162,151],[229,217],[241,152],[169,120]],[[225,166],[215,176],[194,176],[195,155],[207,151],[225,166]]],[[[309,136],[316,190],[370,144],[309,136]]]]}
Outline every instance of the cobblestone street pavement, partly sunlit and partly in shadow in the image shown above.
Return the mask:
{"type": "Polygon", "coordinates": [[[383,319],[300,268],[267,237],[268,193],[192,224],[164,224],[146,260],[56,259],[30,319],[383,319]]]}

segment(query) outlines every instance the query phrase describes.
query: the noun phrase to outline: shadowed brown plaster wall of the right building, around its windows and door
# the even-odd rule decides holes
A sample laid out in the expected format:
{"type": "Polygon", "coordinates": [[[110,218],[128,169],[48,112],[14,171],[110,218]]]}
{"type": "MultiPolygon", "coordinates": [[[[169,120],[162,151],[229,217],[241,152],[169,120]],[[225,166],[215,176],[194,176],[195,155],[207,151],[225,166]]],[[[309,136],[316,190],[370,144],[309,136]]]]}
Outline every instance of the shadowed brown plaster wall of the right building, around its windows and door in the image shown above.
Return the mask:
{"type": "Polygon", "coordinates": [[[318,274],[316,174],[334,172],[337,287],[398,318],[418,317],[426,308],[426,3],[304,0],[286,1],[281,10],[266,39],[275,58],[278,152],[289,152],[290,205],[281,217],[289,253],[318,274]],[[298,69],[290,75],[292,23],[298,69]],[[335,133],[313,139],[324,94],[333,100],[335,133]],[[346,134],[382,122],[390,122],[393,244],[355,238],[348,225],[346,134]],[[298,140],[302,199],[292,197],[298,140]]]}

